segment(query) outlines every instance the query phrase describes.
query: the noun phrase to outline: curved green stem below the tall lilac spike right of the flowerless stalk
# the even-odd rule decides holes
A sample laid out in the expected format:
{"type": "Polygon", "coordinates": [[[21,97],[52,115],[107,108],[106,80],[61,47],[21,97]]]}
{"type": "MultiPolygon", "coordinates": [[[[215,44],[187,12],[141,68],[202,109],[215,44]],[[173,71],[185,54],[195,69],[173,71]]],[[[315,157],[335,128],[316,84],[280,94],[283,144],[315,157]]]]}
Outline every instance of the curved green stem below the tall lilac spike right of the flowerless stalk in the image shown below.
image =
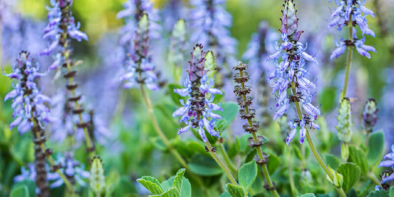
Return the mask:
{"type": "MultiPolygon", "coordinates": [[[[293,78],[293,80],[294,80],[294,78],[293,78]]],[[[293,95],[296,95],[296,85],[295,85],[294,81],[292,82],[292,91],[293,91],[293,95]]],[[[301,119],[303,119],[303,116],[302,116],[298,101],[295,102],[295,105],[296,105],[298,118],[301,120],[301,119]]],[[[331,173],[331,171],[329,171],[326,163],[324,163],[323,159],[320,157],[319,152],[316,150],[315,144],[313,144],[311,135],[309,134],[309,131],[306,128],[306,126],[305,126],[305,130],[306,130],[306,140],[308,141],[309,147],[311,148],[313,155],[315,156],[318,163],[323,167],[324,171],[326,171],[328,177],[333,181],[334,175],[331,173]]],[[[338,190],[338,193],[341,197],[346,197],[346,194],[341,187],[337,187],[337,190],[338,190]]]]}

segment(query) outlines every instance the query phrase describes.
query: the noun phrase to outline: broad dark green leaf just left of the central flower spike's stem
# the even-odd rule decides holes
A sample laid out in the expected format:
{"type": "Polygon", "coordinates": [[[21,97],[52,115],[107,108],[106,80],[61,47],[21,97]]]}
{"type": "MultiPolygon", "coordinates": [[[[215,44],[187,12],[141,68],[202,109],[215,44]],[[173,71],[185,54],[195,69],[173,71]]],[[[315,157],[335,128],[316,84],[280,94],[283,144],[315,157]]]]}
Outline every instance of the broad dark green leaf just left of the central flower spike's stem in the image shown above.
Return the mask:
{"type": "Polygon", "coordinates": [[[222,174],[222,168],[212,158],[196,154],[189,163],[190,171],[202,176],[216,176],[222,174]]]}

